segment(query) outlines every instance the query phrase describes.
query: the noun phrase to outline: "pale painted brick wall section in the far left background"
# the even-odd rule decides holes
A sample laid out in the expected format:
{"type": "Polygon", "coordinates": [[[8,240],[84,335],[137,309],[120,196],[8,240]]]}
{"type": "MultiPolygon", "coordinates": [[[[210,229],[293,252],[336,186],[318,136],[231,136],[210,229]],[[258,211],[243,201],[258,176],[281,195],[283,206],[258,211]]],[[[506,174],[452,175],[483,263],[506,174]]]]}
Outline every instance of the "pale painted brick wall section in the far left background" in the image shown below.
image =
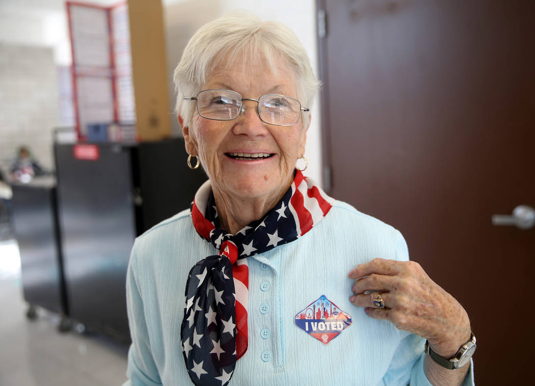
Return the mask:
{"type": "Polygon", "coordinates": [[[53,168],[52,132],[58,126],[58,86],[51,48],[0,43],[0,167],[20,145],[53,168]]]}

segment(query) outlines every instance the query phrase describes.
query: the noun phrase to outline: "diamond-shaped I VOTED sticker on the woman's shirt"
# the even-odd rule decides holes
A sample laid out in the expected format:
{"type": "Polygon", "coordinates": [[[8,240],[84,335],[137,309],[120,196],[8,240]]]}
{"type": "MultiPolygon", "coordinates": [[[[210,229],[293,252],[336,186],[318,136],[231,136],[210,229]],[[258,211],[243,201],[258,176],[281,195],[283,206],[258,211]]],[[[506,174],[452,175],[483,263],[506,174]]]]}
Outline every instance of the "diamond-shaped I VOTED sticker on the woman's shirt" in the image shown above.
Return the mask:
{"type": "Polygon", "coordinates": [[[320,296],[295,315],[297,327],[325,345],[351,326],[351,321],[351,315],[340,310],[325,295],[320,296]]]}

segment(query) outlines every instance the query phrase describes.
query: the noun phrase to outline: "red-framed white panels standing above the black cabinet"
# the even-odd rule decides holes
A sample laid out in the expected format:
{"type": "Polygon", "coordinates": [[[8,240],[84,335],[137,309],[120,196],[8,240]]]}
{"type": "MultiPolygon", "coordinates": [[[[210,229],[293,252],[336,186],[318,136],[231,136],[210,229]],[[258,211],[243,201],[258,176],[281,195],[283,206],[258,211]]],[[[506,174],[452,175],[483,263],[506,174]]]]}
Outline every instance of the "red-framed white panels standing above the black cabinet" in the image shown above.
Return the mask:
{"type": "Polygon", "coordinates": [[[127,3],[67,2],[79,140],[89,125],[135,123],[127,3]]]}

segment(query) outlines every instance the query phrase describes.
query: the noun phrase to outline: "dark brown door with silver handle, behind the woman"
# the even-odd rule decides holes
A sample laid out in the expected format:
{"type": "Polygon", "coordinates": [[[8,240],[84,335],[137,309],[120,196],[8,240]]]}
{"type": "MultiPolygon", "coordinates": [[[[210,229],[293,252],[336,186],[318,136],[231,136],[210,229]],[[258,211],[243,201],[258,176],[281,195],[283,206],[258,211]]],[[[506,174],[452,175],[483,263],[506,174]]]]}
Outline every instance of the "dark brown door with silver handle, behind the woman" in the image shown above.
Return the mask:
{"type": "Polygon", "coordinates": [[[535,2],[318,10],[325,186],[400,229],[411,258],[466,308],[478,384],[524,384],[535,228],[491,217],[535,207],[535,2]]]}

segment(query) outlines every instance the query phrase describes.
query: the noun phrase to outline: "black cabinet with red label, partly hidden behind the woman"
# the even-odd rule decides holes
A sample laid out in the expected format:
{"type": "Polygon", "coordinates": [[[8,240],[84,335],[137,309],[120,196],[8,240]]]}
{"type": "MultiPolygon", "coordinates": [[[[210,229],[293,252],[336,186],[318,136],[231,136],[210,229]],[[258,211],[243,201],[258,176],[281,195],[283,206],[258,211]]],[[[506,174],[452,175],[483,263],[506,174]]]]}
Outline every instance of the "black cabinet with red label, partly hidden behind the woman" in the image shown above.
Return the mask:
{"type": "Polygon", "coordinates": [[[55,144],[70,317],[129,340],[125,281],[134,238],[189,207],[207,179],[184,140],[55,144]]]}

